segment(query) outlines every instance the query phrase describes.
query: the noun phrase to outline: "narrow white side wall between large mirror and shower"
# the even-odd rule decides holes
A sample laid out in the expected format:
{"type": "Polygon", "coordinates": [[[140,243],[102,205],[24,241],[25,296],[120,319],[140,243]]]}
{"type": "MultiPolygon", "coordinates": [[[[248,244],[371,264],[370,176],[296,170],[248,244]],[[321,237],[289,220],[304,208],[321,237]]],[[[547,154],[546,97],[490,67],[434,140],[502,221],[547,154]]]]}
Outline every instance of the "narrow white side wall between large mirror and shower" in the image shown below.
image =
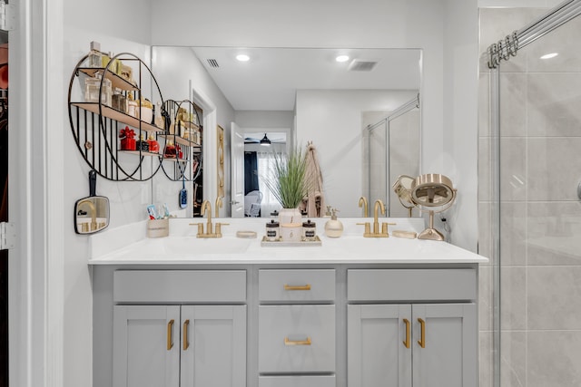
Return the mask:
{"type": "MultiPolygon", "coordinates": [[[[442,214],[449,241],[476,251],[478,246],[478,9],[476,0],[445,2],[444,173],[458,189],[456,203],[442,214]]],[[[428,145],[428,144],[426,144],[428,145]]],[[[438,216],[436,217],[439,218],[438,216]]],[[[437,228],[442,229],[436,222],[437,228]]]]}

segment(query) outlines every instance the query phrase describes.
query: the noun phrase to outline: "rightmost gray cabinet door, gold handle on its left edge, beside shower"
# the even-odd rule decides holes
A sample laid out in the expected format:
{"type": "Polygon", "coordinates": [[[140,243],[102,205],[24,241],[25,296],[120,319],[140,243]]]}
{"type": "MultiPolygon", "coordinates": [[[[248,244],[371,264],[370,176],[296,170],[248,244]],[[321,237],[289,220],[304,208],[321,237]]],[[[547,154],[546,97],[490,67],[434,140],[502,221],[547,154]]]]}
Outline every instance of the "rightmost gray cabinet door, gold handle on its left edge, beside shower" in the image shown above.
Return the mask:
{"type": "Polygon", "coordinates": [[[476,305],[413,305],[412,314],[414,387],[477,386],[476,305]]]}

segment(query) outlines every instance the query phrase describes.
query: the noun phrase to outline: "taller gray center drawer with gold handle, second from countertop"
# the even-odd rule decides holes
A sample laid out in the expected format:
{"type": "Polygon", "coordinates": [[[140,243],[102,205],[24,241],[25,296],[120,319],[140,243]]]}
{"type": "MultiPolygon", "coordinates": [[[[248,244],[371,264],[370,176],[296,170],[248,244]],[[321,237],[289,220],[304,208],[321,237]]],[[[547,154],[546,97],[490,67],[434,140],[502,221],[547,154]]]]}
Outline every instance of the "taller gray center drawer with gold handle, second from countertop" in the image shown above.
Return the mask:
{"type": "Polygon", "coordinates": [[[261,305],[259,372],[334,372],[335,305],[261,305]]]}

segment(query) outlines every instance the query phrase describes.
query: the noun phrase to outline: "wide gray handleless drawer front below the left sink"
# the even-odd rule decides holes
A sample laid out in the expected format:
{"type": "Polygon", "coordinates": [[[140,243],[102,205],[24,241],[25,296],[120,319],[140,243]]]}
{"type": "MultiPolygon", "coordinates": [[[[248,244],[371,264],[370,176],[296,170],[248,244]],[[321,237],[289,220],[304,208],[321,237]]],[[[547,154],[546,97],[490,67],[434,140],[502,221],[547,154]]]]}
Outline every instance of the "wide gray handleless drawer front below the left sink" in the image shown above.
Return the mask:
{"type": "Polygon", "coordinates": [[[115,303],[245,302],[245,270],[118,270],[115,303]]]}

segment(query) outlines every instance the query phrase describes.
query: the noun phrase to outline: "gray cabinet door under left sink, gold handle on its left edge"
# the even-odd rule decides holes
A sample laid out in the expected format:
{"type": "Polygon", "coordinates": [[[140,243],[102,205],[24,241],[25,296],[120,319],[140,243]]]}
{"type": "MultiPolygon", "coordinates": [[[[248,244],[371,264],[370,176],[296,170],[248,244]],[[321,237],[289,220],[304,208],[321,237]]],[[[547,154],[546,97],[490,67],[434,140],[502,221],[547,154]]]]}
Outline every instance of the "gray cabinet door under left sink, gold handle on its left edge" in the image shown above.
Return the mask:
{"type": "Polygon", "coordinates": [[[246,386],[246,305],[182,306],[182,387],[246,386]]]}

